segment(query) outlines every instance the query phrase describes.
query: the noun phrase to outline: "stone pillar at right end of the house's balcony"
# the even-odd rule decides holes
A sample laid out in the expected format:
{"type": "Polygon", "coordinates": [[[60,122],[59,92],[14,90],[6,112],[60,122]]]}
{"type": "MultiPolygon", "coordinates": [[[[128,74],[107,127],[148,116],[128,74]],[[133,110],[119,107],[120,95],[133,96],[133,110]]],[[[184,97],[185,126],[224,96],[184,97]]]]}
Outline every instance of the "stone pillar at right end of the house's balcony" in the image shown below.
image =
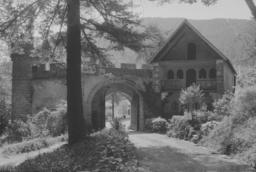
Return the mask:
{"type": "Polygon", "coordinates": [[[217,71],[217,92],[224,92],[224,61],[223,59],[216,60],[217,71]]]}

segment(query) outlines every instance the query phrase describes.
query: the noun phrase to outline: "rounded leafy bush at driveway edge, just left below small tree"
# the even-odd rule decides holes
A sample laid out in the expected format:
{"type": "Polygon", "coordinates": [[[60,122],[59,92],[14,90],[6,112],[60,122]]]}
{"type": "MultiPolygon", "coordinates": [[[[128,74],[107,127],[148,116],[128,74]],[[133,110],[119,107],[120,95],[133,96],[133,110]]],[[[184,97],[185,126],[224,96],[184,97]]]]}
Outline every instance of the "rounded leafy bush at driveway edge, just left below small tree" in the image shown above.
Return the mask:
{"type": "Polygon", "coordinates": [[[190,139],[189,132],[192,126],[188,116],[173,116],[168,127],[170,128],[167,132],[168,137],[190,139]]]}

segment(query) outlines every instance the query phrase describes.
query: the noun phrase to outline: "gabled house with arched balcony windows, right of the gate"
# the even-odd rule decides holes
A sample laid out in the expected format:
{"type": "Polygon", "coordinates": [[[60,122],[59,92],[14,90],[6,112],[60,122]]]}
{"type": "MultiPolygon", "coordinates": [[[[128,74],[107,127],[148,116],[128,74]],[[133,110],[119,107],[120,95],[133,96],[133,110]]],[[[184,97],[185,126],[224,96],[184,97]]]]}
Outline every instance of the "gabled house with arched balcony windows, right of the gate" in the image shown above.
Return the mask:
{"type": "Polygon", "coordinates": [[[166,112],[182,111],[180,91],[193,83],[205,93],[195,108],[205,103],[212,110],[214,99],[221,98],[227,90],[234,92],[236,70],[231,62],[186,19],[149,62],[153,64],[155,91],[163,96],[168,93],[166,112]]]}

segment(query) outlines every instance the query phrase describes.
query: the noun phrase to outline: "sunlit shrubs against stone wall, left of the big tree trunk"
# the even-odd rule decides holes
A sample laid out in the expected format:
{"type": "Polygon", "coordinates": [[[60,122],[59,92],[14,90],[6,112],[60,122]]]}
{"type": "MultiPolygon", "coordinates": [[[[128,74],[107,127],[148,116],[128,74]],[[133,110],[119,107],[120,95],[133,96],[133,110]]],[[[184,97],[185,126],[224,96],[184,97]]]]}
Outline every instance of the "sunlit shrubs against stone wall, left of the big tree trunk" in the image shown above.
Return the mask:
{"type": "Polygon", "coordinates": [[[66,102],[62,101],[55,109],[44,108],[34,116],[27,116],[27,121],[14,120],[4,133],[9,143],[21,142],[38,137],[60,136],[63,134],[66,123],[66,102]]]}

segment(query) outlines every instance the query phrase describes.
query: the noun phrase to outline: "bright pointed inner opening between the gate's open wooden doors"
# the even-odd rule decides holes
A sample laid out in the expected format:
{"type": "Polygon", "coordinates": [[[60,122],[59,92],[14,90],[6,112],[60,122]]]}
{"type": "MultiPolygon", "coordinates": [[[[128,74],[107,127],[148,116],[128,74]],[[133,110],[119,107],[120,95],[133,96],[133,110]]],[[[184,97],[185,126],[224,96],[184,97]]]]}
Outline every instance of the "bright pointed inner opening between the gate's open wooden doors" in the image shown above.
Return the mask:
{"type": "Polygon", "coordinates": [[[124,93],[114,93],[105,102],[105,122],[106,127],[111,128],[109,120],[113,117],[122,119],[125,128],[131,128],[131,102],[124,93]]]}

